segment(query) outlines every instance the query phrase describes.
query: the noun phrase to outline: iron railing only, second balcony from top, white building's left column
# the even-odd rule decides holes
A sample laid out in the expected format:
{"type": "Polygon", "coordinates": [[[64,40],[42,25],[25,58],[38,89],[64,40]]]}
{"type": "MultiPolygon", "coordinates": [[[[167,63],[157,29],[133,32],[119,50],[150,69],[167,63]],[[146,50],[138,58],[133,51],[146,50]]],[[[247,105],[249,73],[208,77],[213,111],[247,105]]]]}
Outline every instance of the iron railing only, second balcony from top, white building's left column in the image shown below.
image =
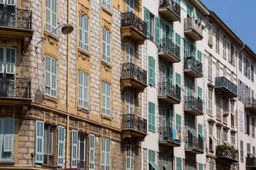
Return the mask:
{"type": "Polygon", "coordinates": [[[180,47],[174,44],[174,42],[171,42],[168,38],[160,40],[159,52],[170,52],[176,58],[181,59],[180,47]]]}

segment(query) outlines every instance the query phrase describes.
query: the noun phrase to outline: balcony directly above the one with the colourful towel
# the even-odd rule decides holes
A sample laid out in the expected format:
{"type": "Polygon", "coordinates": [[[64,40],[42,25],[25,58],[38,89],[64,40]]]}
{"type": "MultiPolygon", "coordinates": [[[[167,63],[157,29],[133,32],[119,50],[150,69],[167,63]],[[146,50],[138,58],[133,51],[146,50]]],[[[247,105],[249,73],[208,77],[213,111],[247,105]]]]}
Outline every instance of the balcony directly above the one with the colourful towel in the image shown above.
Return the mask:
{"type": "Polygon", "coordinates": [[[181,102],[181,90],[176,89],[176,86],[169,84],[169,82],[159,83],[159,96],[162,101],[170,104],[179,104],[181,102]]]}

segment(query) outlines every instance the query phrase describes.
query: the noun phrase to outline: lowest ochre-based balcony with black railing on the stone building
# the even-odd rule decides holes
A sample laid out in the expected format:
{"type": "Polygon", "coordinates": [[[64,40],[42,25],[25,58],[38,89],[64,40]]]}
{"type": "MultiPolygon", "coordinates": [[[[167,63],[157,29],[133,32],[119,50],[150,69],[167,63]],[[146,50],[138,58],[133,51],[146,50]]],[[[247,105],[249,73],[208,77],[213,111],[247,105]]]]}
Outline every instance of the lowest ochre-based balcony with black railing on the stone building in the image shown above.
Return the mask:
{"type": "Polygon", "coordinates": [[[144,141],[146,137],[146,119],[134,114],[122,115],[122,141],[126,138],[133,138],[137,141],[144,141]]]}

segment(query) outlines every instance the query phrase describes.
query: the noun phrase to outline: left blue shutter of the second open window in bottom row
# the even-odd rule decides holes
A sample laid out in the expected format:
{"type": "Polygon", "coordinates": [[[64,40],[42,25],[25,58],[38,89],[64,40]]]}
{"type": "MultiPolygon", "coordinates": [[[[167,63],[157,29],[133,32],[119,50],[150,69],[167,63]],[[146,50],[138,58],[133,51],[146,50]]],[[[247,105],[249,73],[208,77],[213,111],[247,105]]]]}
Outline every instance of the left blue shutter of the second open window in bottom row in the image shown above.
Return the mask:
{"type": "Polygon", "coordinates": [[[78,131],[72,130],[71,168],[78,167],[78,131]]]}

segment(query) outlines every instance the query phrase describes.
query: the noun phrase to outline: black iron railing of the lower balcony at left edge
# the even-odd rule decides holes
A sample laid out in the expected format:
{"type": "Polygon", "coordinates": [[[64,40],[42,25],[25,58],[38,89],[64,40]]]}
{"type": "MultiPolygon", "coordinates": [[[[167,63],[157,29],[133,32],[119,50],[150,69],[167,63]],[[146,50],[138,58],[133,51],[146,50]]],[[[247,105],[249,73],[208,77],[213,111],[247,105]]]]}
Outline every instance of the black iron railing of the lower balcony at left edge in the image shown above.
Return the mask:
{"type": "Polygon", "coordinates": [[[0,97],[30,98],[31,79],[1,79],[0,97]]]}

